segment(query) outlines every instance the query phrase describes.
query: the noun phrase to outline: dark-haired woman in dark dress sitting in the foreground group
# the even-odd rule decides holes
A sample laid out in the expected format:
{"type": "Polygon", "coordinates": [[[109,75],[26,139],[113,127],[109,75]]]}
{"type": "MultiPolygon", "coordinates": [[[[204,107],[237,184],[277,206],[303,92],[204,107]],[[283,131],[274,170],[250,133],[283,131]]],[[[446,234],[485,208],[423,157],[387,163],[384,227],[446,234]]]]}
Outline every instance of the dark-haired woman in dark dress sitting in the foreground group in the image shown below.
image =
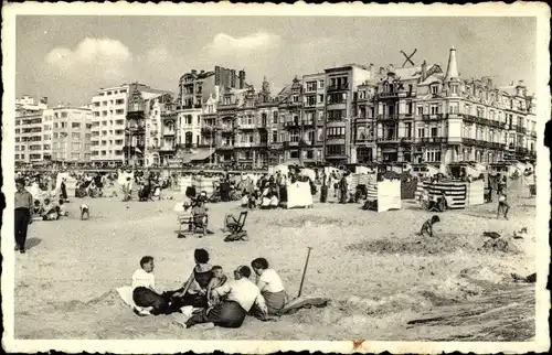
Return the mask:
{"type": "Polygon", "coordinates": [[[209,252],[205,249],[195,249],[193,257],[195,267],[190,278],[181,289],[167,294],[171,297],[171,308],[174,310],[184,305],[194,308],[206,308],[209,305],[206,289],[213,278],[213,267],[209,263],[209,252]]]}

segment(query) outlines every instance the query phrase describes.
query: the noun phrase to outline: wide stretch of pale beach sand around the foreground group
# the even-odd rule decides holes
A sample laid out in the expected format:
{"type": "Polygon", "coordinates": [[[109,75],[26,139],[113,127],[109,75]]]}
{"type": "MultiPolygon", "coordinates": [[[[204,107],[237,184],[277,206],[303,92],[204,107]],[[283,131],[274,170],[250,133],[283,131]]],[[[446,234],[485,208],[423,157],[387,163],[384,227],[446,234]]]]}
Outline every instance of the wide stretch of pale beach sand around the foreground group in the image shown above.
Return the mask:
{"type": "Polygon", "coordinates": [[[520,185],[510,187],[510,220],[496,219],[496,203],[446,212],[431,240],[415,234],[431,214],[413,202],[380,214],[332,203],[254,211],[250,241],[224,243],[223,216],[237,215],[237,203],[209,206],[213,235],[178,239],[176,201],[87,198],[92,218],[81,222],[74,198],[71,217],[32,224],[28,254],[17,255],[15,337],[531,340],[534,287],[510,277],[534,272],[535,202],[520,185]],[[528,235],[512,239],[521,227],[528,235]],[[486,230],[508,238],[509,249],[481,250],[486,230]],[[267,258],[296,295],[307,246],[314,249],[304,294],[332,303],[275,323],[247,319],[240,330],[181,330],[168,316],[135,315],[115,291],[130,284],[145,255],[156,258],[158,288],[176,289],[193,267],[193,250],[205,248],[229,275],[267,258]]]}

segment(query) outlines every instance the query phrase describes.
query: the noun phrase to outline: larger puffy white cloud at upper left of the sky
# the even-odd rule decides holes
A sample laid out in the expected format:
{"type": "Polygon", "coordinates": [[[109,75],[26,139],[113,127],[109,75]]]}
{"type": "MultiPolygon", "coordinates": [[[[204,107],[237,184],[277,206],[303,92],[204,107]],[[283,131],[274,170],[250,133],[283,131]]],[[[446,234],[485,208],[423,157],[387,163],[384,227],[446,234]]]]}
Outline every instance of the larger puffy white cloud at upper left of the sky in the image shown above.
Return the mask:
{"type": "Polygon", "coordinates": [[[66,75],[124,77],[132,54],[117,40],[86,37],[74,50],[56,47],[50,51],[44,61],[51,69],[66,75]]]}

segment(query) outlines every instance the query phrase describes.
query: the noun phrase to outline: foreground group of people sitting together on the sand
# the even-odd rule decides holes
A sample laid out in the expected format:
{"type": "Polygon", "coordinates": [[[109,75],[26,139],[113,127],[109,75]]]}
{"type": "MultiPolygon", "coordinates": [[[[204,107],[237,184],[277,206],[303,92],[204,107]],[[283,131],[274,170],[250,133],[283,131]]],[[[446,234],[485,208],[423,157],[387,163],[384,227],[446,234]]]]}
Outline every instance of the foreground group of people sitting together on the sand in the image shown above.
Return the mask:
{"type": "Polygon", "coordinates": [[[195,267],[182,288],[160,292],[156,288],[153,258],[142,257],[140,268],[132,275],[132,300],[139,315],[159,315],[179,312],[184,306],[193,313],[182,325],[191,327],[212,323],[222,327],[240,327],[246,315],[269,320],[287,302],[287,293],[278,273],[268,261],[257,258],[248,266],[238,266],[233,280],[221,266],[212,266],[209,252],[194,251],[195,267]],[[253,269],[253,271],[252,271],[253,269]],[[251,280],[255,276],[255,282],[251,280]]]}

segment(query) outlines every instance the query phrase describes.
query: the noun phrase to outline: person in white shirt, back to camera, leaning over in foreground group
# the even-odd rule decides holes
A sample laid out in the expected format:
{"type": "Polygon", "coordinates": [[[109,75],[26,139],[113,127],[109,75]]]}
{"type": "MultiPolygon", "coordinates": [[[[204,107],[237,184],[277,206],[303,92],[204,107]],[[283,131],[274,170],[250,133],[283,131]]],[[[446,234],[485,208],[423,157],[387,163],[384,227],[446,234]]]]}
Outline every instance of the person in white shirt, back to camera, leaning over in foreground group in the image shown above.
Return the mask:
{"type": "Polygon", "coordinates": [[[222,327],[240,327],[245,316],[252,309],[258,309],[255,312],[261,320],[266,320],[267,309],[265,299],[255,283],[250,281],[251,269],[246,266],[240,266],[234,271],[233,282],[226,282],[217,288],[219,294],[225,297],[224,301],[212,309],[204,309],[200,313],[193,314],[183,325],[191,327],[195,324],[210,323],[222,327]]]}

